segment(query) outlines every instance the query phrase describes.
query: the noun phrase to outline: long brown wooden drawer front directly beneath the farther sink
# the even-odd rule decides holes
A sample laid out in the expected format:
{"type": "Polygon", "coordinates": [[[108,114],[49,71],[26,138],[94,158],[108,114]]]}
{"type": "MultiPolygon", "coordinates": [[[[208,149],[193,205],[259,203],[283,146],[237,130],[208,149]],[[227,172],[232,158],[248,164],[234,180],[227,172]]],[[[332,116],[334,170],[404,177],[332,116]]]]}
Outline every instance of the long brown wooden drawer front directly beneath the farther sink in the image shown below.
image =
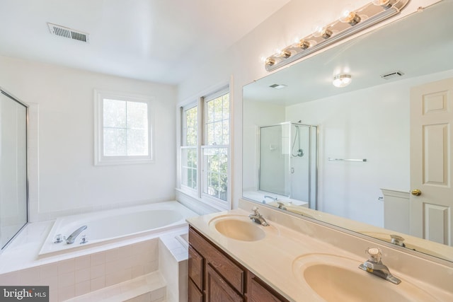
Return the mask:
{"type": "Polygon", "coordinates": [[[245,272],[234,260],[214,248],[212,243],[189,228],[189,243],[240,294],[244,292],[245,272]]]}

